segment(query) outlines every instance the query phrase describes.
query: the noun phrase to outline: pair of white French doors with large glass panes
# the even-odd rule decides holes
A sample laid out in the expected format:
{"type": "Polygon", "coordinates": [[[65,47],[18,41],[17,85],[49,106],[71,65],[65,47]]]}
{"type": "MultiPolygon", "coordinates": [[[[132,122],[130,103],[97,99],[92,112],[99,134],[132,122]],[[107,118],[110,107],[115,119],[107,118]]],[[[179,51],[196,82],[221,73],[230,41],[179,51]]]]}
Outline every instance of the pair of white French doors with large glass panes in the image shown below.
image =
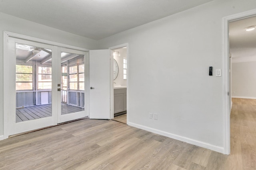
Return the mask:
{"type": "Polygon", "coordinates": [[[4,111],[8,135],[88,115],[87,52],[8,37],[4,111]]]}

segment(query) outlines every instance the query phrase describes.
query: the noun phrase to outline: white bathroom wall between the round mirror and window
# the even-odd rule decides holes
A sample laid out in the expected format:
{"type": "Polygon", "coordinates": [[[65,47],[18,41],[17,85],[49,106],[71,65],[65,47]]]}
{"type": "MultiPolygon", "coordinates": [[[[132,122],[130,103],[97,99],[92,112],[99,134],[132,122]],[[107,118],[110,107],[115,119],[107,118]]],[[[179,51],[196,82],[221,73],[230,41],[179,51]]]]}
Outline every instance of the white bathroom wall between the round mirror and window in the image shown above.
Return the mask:
{"type": "Polygon", "coordinates": [[[126,48],[116,49],[114,51],[119,51],[119,54],[120,54],[120,57],[114,55],[114,59],[118,64],[118,75],[114,80],[114,82],[116,83],[114,85],[126,86],[126,80],[124,80],[124,64],[123,64],[124,63],[123,59],[127,57],[126,48]]]}

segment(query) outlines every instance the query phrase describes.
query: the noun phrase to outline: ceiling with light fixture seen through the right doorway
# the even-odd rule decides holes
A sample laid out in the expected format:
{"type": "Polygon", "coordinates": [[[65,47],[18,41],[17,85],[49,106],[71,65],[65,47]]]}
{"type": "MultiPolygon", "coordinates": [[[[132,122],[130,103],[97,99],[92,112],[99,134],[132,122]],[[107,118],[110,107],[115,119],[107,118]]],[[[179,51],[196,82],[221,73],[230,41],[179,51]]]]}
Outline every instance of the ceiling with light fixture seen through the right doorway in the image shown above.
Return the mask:
{"type": "Polygon", "coordinates": [[[246,31],[252,25],[256,26],[256,16],[229,23],[232,58],[256,58],[256,29],[246,31]]]}

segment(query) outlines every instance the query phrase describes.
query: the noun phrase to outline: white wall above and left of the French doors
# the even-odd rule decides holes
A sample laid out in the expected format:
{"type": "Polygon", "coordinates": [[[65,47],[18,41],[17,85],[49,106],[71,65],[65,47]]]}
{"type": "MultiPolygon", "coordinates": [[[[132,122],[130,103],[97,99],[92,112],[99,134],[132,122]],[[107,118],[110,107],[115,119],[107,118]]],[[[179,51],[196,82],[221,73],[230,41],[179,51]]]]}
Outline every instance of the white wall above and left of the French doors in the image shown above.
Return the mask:
{"type": "Polygon", "coordinates": [[[3,31],[86,49],[96,49],[97,45],[97,41],[92,39],[0,13],[0,137],[3,135],[3,31]]]}

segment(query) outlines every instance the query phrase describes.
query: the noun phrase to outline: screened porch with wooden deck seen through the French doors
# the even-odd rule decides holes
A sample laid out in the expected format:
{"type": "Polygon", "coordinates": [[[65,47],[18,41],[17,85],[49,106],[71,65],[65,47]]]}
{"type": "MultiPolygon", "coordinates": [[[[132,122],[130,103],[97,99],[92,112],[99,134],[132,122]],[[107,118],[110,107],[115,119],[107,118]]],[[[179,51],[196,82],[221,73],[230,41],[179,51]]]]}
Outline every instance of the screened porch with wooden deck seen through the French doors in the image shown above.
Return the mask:
{"type": "MultiPolygon", "coordinates": [[[[84,111],[84,55],[62,52],[60,74],[61,114],[84,111]]],[[[52,50],[16,43],[16,123],[50,116],[52,50]]]]}

